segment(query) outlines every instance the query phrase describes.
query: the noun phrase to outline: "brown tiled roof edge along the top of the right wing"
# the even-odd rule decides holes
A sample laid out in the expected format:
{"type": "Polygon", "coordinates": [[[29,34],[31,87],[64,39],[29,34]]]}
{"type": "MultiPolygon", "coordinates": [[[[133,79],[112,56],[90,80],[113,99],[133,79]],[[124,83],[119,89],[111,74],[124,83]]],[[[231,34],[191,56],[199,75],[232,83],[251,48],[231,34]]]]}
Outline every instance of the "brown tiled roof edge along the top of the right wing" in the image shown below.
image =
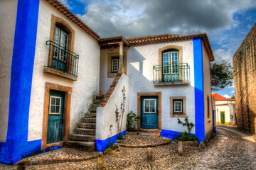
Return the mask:
{"type": "MultiPolygon", "coordinates": [[[[108,43],[111,44],[112,41],[117,40],[117,38],[124,38],[122,35],[116,36],[116,37],[110,37],[110,38],[100,38],[99,42],[102,42],[103,40],[107,40],[108,43]]],[[[193,38],[201,38],[203,41],[203,45],[206,47],[206,52],[208,54],[208,57],[210,59],[210,62],[214,61],[213,57],[213,51],[210,47],[210,42],[208,40],[208,37],[206,33],[202,34],[193,34],[193,35],[175,35],[175,34],[161,34],[161,35],[150,35],[145,37],[139,37],[139,38],[126,38],[127,42],[129,42],[129,46],[132,45],[146,45],[146,44],[154,44],[158,42],[169,42],[169,41],[177,41],[177,40],[190,40],[193,38]]]]}

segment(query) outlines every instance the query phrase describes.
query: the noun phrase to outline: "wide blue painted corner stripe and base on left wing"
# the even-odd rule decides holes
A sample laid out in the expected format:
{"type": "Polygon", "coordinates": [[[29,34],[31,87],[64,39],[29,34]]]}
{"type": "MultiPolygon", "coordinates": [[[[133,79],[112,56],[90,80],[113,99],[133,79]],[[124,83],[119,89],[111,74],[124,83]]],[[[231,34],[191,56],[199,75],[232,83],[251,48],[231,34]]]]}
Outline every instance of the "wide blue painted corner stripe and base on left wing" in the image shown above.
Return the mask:
{"type": "Polygon", "coordinates": [[[36,50],[39,0],[18,0],[11,63],[9,121],[0,162],[15,164],[41,150],[41,140],[28,142],[28,116],[36,50]]]}

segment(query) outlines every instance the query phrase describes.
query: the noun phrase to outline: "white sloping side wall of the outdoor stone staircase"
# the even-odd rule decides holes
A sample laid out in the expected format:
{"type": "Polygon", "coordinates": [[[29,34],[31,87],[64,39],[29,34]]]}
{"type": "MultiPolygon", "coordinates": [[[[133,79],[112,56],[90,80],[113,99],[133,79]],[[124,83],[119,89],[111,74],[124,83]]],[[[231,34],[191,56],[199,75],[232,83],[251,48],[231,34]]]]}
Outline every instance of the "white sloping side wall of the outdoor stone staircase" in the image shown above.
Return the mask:
{"type": "MultiPolygon", "coordinates": [[[[121,132],[126,130],[127,113],[129,112],[129,77],[122,74],[117,86],[115,86],[110,99],[107,101],[105,107],[97,107],[97,124],[96,124],[96,140],[105,140],[109,137],[117,135],[117,121],[116,121],[116,106],[121,113],[121,103],[123,100],[122,89],[125,86],[126,101],[124,107],[124,117],[122,122],[121,132]],[[112,125],[112,134],[110,133],[110,125],[112,125]]],[[[121,120],[120,120],[121,125],[121,120]]]]}

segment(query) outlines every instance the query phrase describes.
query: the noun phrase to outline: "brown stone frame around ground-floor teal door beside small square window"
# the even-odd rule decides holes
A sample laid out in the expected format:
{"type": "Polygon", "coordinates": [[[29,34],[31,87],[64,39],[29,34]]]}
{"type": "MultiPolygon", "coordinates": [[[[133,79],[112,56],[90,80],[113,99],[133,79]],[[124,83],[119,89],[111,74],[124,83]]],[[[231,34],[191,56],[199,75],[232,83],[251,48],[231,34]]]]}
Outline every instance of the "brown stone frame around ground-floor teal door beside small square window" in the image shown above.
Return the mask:
{"type": "Polygon", "coordinates": [[[161,91],[159,92],[137,92],[137,115],[141,116],[141,100],[144,96],[158,96],[158,102],[159,102],[159,128],[158,129],[142,129],[141,128],[141,119],[139,118],[137,120],[137,130],[143,131],[143,132],[161,132],[161,91]]]}

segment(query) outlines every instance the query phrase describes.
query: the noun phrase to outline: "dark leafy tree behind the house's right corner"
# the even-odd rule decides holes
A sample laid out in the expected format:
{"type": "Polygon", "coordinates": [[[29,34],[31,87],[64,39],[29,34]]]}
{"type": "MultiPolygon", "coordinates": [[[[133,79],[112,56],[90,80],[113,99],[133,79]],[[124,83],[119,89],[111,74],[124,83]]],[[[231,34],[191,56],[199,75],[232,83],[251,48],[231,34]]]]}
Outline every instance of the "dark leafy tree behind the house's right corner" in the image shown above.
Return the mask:
{"type": "Polygon", "coordinates": [[[220,64],[210,63],[210,83],[213,91],[225,88],[232,85],[234,79],[231,64],[221,61],[220,64]]]}

